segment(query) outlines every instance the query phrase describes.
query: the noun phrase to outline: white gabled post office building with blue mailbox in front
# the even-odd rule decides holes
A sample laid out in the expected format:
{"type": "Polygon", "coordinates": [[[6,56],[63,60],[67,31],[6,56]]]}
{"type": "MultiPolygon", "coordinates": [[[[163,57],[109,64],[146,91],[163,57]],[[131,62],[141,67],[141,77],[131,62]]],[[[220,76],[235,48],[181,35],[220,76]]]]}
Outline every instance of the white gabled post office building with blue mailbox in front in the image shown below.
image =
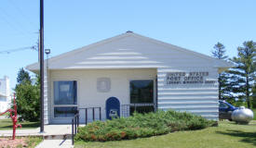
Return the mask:
{"type": "MultiPolygon", "coordinates": [[[[70,123],[76,110],[81,122],[156,109],[218,120],[218,74],[232,67],[231,63],[132,31],[46,62],[46,124],[70,123]],[[86,113],[85,108],[90,107],[100,109],[86,113]]],[[[39,63],[27,69],[38,73],[39,63]]]]}

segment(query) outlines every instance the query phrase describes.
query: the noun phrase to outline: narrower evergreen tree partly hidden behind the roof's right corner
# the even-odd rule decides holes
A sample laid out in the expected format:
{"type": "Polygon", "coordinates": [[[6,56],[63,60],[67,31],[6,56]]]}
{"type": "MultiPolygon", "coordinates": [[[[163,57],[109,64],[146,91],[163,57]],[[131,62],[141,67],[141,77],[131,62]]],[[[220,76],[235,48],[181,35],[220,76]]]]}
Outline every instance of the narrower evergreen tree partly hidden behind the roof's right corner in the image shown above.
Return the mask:
{"type": "MultiPolygon", "coordinates": [[[[211,54],[213,57],[217,59],[222,59],[226,60],[227,56],[225,56],[225,47],[222,43],[217,43],[213,46],[215,50],[211,51],[211,54]]],[[[225,86],[227,85],[227,77],[226,73],[222,72],[219,74],[218,77],[218,82],[219,82],[219,100],[224,99],[224,93],[225,93],[225,86]]]]}

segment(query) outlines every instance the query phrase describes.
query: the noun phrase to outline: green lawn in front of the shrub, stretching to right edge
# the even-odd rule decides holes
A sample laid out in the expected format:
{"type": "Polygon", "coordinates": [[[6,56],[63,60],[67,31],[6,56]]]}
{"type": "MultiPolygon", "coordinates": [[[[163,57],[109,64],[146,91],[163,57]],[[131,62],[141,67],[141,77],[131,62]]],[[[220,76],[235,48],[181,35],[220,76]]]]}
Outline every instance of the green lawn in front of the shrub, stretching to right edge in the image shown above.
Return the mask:
{"type": "Polygon", "coordinates": [[[219,127],[178,131],[116,142],[75,142],[75,148],[256,148],[256,120],[249,125],[219,122],[219,127]]]}

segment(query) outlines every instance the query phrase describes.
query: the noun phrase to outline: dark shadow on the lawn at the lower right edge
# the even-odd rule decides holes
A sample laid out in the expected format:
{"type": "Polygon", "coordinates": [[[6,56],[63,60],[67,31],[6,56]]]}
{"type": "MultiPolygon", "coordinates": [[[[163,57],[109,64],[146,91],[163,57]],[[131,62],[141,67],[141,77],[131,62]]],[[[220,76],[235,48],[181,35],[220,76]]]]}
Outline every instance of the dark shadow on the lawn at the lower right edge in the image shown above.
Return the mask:
{"type": "Polygon", "coordinates": [[[256,132],[245,132],[241,130],[216,131],[216,133],[243,138],[241,142],[256,145],[256,132]]]}

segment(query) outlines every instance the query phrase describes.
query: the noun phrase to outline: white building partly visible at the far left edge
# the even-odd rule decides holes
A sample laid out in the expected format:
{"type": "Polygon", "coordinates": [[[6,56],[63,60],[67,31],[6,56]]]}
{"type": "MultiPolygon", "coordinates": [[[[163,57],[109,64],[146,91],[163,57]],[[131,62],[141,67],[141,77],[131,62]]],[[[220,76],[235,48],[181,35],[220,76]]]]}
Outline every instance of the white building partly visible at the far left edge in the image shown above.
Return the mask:
{"type": "Polygon", "coordinates": [[[6,111],[10,107],[11,95],[9,78],[0,79],[0,113],[6,111]]]}

